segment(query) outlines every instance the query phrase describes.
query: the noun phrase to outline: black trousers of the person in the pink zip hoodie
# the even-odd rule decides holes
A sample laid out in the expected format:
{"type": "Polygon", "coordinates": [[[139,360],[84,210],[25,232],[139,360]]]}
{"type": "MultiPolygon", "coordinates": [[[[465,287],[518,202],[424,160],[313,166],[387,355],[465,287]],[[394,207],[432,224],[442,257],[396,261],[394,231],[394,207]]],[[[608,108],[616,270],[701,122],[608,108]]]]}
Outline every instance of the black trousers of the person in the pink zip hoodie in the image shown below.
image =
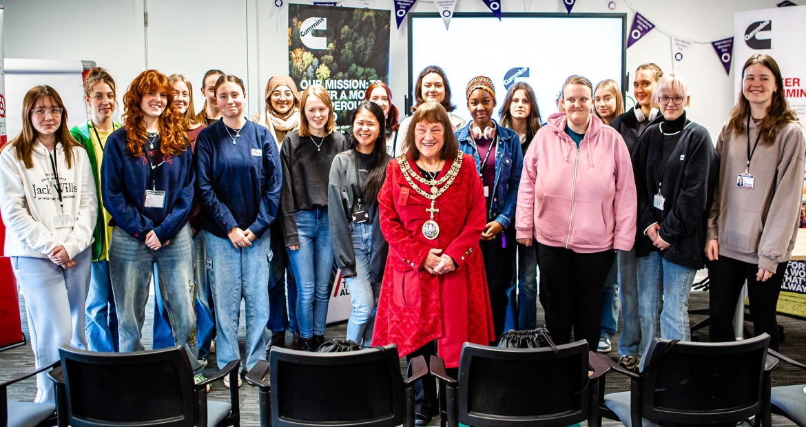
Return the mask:
{"type": "Polygon", "coordinates": [[[538,243],[540,304],[546,313],[546,328],[555,344],[588,340],[588,348],[599,345],[601,295],[613,267],[613,250],[580,254],[564,247],[538,243]]]}

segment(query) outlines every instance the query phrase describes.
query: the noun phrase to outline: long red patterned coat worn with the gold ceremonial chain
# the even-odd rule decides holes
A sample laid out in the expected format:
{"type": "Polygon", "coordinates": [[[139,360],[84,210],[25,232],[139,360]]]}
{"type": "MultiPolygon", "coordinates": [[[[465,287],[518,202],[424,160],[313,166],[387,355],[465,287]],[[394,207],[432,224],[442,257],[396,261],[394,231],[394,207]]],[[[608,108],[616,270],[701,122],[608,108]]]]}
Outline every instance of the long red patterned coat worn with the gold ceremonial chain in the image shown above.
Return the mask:
{"type": "MultiPolygon", "coordinates": [[[[454,160],[447,160],[447,173],[454,160]]],[[[409,164],[418,173],[417,165],[409,164]]],[[[426,184],[412,178],[426,192],[426,184]]],[[[492,310],[481,259],[479,239],[486,213],[484,191],[471,155],[451,187],[437,198],[434,221],[439,235],[428,240],[422,225],[431,201],[411,189],[397,160],[389,161],[378,193],[380,230],[389,243],[375,321],[373,346],[397,344],[401,356],[437,339],[447,367],[459,366],[464,342],[488,344],[495,339],[492,310]],[[444,275],[426,272],[423,263],[431,248],[442,249],[459,267],[444,275]]]]}

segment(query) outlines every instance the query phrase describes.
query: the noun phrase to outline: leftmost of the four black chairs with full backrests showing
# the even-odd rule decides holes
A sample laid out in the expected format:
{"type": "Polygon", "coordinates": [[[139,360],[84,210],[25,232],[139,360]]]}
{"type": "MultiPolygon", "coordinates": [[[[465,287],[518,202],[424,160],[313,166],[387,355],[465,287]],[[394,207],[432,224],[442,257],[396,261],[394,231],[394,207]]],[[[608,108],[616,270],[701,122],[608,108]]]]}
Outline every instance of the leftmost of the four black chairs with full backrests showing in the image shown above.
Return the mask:
{"type": "Polygon", "coordinates": [[[61,346],[59,354],[61,367],[50,375],[57,386],[60,426],[239,425],[238,388],[230,389],[230,402],[208,401],[206,388],[225,375],[236,383],[240,360],[194,384],[182,346],[133,353],[61,346]]]}

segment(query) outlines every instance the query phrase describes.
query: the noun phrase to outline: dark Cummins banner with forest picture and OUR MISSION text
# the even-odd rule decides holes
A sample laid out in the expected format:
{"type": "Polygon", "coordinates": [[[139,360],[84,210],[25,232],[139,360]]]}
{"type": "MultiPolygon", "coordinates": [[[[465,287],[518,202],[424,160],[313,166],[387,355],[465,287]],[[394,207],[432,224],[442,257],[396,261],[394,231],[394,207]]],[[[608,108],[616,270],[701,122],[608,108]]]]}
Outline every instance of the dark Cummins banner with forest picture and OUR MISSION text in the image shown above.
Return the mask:
{"type": "Polygon", "coordinates": [[[325,86],[339,130],[374,81],[388,81],[388,10],[289,4],[289,76],[325,86]]]}

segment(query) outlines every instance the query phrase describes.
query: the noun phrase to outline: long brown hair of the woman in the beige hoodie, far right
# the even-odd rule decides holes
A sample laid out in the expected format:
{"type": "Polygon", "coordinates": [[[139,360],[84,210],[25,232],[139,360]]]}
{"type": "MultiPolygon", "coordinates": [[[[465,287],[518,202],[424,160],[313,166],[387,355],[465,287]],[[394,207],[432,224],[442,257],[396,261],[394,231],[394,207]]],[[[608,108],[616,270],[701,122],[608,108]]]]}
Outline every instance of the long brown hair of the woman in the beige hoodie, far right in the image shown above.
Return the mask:
{"type": "MultiPolygon", "coordinates": [[[[772,102],[767,107],[767,115],[764,116],[761,122],[758,123],[758,132],[762,135],[762,144],[772,145],[775,143],[775,137],[778,136],[780,126],[786,125],[790,122],[798,122],[798,115],[795,110],[787,102],[787,97],[783,89],[783,78],[781,77],[781,68],[778,63],[765,53],[757,53],[750,56],[745,66],[742,67],[742,80],[744,80],[745,70],[753,64],[762,64],[770,69],[775,76],[775,85],[778,88],[772,94],[772,102]]],[[[742,85],[744,81],[742,81],[742,85]]],[[[730,118],[728,119],[727,131],[733,131],[733,136],[742,135],[746,131],[746,119],[750,114],[750,102],[747,101],[744,92],[739,93],[739,99],[733,110],[730,110],[730,118]]]]}

